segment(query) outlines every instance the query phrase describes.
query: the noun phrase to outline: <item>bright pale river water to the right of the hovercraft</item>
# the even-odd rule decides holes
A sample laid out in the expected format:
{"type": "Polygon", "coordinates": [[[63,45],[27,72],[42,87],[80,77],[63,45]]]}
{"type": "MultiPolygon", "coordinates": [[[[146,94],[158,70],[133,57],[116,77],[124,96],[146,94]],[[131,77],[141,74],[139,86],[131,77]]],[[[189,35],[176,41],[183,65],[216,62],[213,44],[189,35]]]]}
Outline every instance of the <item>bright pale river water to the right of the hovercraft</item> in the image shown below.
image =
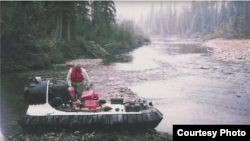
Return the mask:
{"type": "Polygon", "coordinates": [[[131,53],[117,70],[146,81],[129,87],[153,100],[164,119],[156,128],[172,133],[173,124],[250,124],[250,66],[211,60],[201,42],[165,40],[131,53]]]}

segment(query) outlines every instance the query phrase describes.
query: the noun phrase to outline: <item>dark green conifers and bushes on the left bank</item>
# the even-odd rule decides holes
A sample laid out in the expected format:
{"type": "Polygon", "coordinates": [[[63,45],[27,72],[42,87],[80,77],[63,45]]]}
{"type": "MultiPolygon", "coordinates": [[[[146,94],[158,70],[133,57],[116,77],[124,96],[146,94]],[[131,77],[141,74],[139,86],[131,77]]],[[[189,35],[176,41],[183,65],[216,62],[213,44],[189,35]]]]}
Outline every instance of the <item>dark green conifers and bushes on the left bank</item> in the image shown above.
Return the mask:
{"type": "Polygon", "coordinates": [[[0,0],[0,72],[93,57],[90,41],[111,55],[137,46],[143,35],[115,16],[113,0],[0,0]]]}

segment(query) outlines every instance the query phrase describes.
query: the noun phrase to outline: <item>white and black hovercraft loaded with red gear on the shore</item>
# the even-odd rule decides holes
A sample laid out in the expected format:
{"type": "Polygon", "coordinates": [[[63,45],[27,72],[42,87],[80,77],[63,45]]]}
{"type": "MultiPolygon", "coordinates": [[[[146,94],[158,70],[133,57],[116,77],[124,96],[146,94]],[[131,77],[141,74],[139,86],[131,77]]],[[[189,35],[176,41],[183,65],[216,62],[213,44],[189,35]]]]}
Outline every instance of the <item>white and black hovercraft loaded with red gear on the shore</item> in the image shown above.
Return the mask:
{"type": "Polygon", "coordinates": [[[163,119],[163,114],[146,99],[124,103],[123,98],[111,98],[110,102],[106,102],[95,97],[85,100],[85,103],[79,103],[79,100],[78,103],[70,102],[72,98],[66,84],[53,84],[49,80],[41,80],[41,77],[36,77],[24,94],[29,105],[26,114],[18,120],[23,128],[59,126],[153,129],[163,119]]]}

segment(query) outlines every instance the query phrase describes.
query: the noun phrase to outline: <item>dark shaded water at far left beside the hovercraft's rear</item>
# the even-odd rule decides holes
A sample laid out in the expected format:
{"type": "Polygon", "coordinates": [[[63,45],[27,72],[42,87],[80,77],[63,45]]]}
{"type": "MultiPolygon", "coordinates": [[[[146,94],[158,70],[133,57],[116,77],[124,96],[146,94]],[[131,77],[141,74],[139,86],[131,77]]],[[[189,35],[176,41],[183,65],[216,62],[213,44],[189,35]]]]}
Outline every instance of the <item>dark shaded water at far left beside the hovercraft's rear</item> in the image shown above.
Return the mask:
{"type": "Polygon", "coordinates": [[[26,79],[18,74],[5,74],[0,81],[0,141],[21,130],[16,120],[26,112],[27,105],[23,103],[23,88],[26,79]],[[13,81],[16,80],[16,81],[13,81]]]}

